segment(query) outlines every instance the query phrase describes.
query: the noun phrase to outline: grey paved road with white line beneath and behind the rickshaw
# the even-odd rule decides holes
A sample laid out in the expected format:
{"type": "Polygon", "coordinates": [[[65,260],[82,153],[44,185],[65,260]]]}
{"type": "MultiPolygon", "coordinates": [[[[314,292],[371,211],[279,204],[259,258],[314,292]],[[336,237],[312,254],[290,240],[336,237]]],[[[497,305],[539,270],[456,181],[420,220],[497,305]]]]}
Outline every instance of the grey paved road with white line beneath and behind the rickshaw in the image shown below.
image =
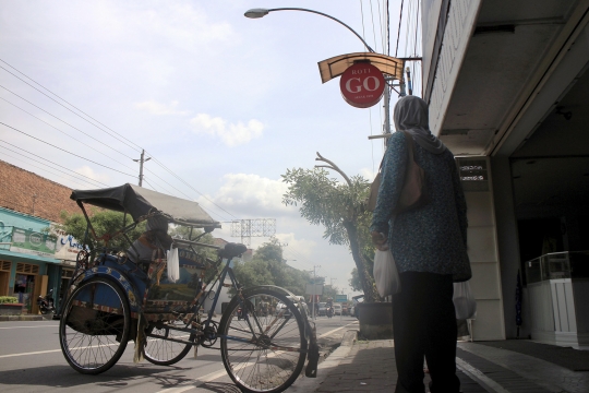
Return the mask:
{"type": "MultiPolygon", "coordinates": [[[[199,348],[199,356],[175,366],[147,361],[133,364],[129,344],[119,362],[99,376],[83,376],[63,358],[59,346],[58,321],[0,322],[0,391],[5,392],[141,392],[238,393],[227,376],[218,350],[199,348]]],[[[339,342],[358,322],[350,317],[320,317],[317,336],[323,342],[339,342]]]]}

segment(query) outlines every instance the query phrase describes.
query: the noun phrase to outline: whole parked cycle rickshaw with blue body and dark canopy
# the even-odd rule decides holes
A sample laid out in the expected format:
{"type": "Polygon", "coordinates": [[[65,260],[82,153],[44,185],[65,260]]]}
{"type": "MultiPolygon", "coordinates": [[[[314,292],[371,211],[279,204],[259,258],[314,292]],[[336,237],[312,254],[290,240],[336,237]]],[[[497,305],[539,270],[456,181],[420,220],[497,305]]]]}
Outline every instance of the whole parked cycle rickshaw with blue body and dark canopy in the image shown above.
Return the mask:
{"type": "Polygon", "coordinates": [[[145,358],[163,366],[181,360],[192,347],[220,349],[225,369],[244,392],[284,391],[301,374],[305,359],[305,376],[316,376],[318,348],[305,308],[284,288],[243,288],[231,262],[247,247],[199,242],[220,225],[196,202],[129,183],[74,190],[71,199],[86,217],[84,245],[89,245],[89,236],[103,245],[80,252],[60,310],[61,348],[76,371],[97,374],[108,370],[133,341],[135,361],[145,358]],[[123,212],[122,228],[96,234],[85,204],[123,212]],[[151,260],[133,262],[125,250],[109,248],[113,237],[122,236],[132,249],[128,233],[152,217],[190,228],[191,240],[173,239],[172,247],[182,250],[176,282],[167,276],[166,255],[154,252],[151,260]],[[203,228],[194,239],[193,228],[203,228]],[[217,249],[218,257],[202,257],[199,247],[217,249]],[[227,278],[229,284],[225,284],[227,278]],[[235,295],[217,321],[214,310],[224,286],[230,286],[235,295]],[[205,299],[211,300],[209,310],[202,313],[205,299]],[[260,305],[272,308],[278,303],[286,307],[277,312],[259,311],[260,305]]]}

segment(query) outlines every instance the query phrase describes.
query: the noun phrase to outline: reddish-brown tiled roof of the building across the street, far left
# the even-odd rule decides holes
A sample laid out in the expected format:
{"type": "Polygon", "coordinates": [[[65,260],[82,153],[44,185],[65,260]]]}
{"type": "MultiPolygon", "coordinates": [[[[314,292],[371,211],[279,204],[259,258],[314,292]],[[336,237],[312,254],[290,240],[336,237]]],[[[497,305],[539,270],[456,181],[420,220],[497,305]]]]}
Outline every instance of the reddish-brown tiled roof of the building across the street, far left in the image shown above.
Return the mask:
{"type": "Polygon", "coordinates": [[[0,159],[0,206],[60,223],[60,212],[79,213],[69,187],[0,159]]]}

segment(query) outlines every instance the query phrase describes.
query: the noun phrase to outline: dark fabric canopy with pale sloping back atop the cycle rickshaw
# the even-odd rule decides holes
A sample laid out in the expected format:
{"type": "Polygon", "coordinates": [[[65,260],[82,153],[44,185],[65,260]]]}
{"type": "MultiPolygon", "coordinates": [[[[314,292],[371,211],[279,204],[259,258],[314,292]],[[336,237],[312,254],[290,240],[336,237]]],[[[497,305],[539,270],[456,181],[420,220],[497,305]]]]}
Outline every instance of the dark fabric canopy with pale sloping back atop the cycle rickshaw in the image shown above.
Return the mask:
{"type": "Polygon", "coordinates": [[[70,199],[77,203],[127,212],[135,222],[141,216],[159,211],[171,217],[171,223],[197,228],[220,228],[219,222],[213,219],[196,202],[130,183],[98,190],[73,190],[70,199]]]}

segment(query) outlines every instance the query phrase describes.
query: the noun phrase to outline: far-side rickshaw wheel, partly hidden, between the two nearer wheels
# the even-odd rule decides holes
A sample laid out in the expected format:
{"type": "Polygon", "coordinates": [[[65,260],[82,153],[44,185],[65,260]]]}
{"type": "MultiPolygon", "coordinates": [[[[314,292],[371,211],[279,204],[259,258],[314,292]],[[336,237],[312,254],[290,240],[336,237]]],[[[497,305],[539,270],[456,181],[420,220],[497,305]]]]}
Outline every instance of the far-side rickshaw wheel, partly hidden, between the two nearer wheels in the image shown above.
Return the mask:
{"type": "MultiPolygon", "coordinates": [[[[145,356],[145,359],[147,359],[147,361],[153,362],[154,365],[173,365],[182,360],[192,347],[192,345],[190,344],[167,341],[166,327],[168,326],[187,327],[187,324],[181,320],[176,320],[163,321],[159,325],[159,329],[157,324],[149,325],[148,332],[152,336],[147,337],[147,343],[145,345],[145,348],[143,348],[143,355],[145,356]],[[154,335],[160,337],[154,337],[154,335]]],[[[194,334],[188,332],[175,331],[171,329],[168,330],[168,338],[185,340],[192,342],[194,341],[194,334]]]]}

